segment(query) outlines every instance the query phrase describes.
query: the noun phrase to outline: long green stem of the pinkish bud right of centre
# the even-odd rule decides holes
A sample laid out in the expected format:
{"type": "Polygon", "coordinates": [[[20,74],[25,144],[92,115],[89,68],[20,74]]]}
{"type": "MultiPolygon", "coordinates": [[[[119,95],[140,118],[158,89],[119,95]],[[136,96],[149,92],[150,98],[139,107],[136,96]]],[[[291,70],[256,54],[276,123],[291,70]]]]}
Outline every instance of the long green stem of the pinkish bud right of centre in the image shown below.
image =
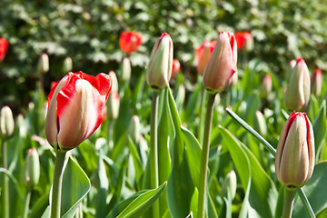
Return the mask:
{"type": "Polygon", "coordinates": [[[203,134],[203,151],[201,155],[200,183],[199,183],[199,201],[198,201],[198,218],[204,217],[204,199],[206,190],[206,180],[208,171],[210,134],[213,120],[213,103],[215,94],[209,94],[207,111],[205,114],[204,134],[203,134]]]}

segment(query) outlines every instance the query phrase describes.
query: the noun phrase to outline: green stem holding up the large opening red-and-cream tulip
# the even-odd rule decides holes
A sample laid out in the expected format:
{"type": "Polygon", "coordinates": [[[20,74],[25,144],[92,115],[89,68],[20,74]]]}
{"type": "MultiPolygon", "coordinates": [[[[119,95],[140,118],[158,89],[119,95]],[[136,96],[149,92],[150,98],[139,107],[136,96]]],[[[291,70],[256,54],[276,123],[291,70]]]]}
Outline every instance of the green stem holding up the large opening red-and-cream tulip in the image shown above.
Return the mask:
{"type": "Polygon", "coordinates": [[[53,193],[51,202],[51,218],[60,217],[61,209],[61,194],[62,194],[62,184],[63,184],[63,167],[65,152],[56,152],[55,163],[54,163],[54,183],[53,183],[53,193]]]}

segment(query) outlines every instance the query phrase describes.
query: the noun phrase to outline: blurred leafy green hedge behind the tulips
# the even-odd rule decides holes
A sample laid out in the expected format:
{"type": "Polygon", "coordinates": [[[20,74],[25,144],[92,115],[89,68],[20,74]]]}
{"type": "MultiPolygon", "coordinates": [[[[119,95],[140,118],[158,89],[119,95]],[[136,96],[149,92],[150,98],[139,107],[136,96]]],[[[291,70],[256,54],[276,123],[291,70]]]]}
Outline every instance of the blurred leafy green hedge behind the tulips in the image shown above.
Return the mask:
{"type": "Polygon", "coordinates": [[[196,78],[194,49],[221,31],[251,32],[254,49],[247,60],[257,60],[263,71],[282,76],[289,61],[300,56],[311,71],[327,70],[327,5],[322,0],[1,0],[0,7],[0,37],[9,41],[0,64],[0,104],[15,113],[32,99],[42,53],[50,60],[45,94],[67,73],[66,56],[73,59],[73,72],[119,74],[124,54],[118,40],[124,30],[144,38],[139,52],[130,56],[132,84],[144,73],[163,32],[172,36],[174,58],[191,81],[196,78]]]}

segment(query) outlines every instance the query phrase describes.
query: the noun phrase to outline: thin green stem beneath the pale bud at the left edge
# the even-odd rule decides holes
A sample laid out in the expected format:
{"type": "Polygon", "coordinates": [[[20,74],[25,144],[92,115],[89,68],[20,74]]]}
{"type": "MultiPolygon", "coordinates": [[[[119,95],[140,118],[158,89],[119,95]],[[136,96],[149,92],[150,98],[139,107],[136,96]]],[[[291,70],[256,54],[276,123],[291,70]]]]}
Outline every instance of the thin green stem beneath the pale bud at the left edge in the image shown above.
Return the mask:
{"type": "MultiPolygon", "coordinates": [[[[7,161],[7,144],[5,139],[2,140],[2,153],[3,153],[3,167],[8,169],[8,161],[7,161]]],[[[3,217],[9,218],[9,178],[8,176],[3,173],[3,217]]]]}

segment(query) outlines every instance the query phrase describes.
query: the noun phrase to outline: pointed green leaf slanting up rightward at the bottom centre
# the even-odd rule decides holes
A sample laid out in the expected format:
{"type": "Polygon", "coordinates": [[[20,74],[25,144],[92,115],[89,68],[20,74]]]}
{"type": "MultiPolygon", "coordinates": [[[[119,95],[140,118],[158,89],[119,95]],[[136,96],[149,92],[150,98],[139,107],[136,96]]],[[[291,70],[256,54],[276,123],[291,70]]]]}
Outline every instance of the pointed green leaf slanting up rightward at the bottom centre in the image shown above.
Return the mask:
{"type": "Polygon", "coordinates": [[[147,191],[138,196],[132,203],[130,203],[117,218],[140,217],[152,204],[159,198],[166,187],[167,182],[162,183],[158,188],[147,191]]]}

